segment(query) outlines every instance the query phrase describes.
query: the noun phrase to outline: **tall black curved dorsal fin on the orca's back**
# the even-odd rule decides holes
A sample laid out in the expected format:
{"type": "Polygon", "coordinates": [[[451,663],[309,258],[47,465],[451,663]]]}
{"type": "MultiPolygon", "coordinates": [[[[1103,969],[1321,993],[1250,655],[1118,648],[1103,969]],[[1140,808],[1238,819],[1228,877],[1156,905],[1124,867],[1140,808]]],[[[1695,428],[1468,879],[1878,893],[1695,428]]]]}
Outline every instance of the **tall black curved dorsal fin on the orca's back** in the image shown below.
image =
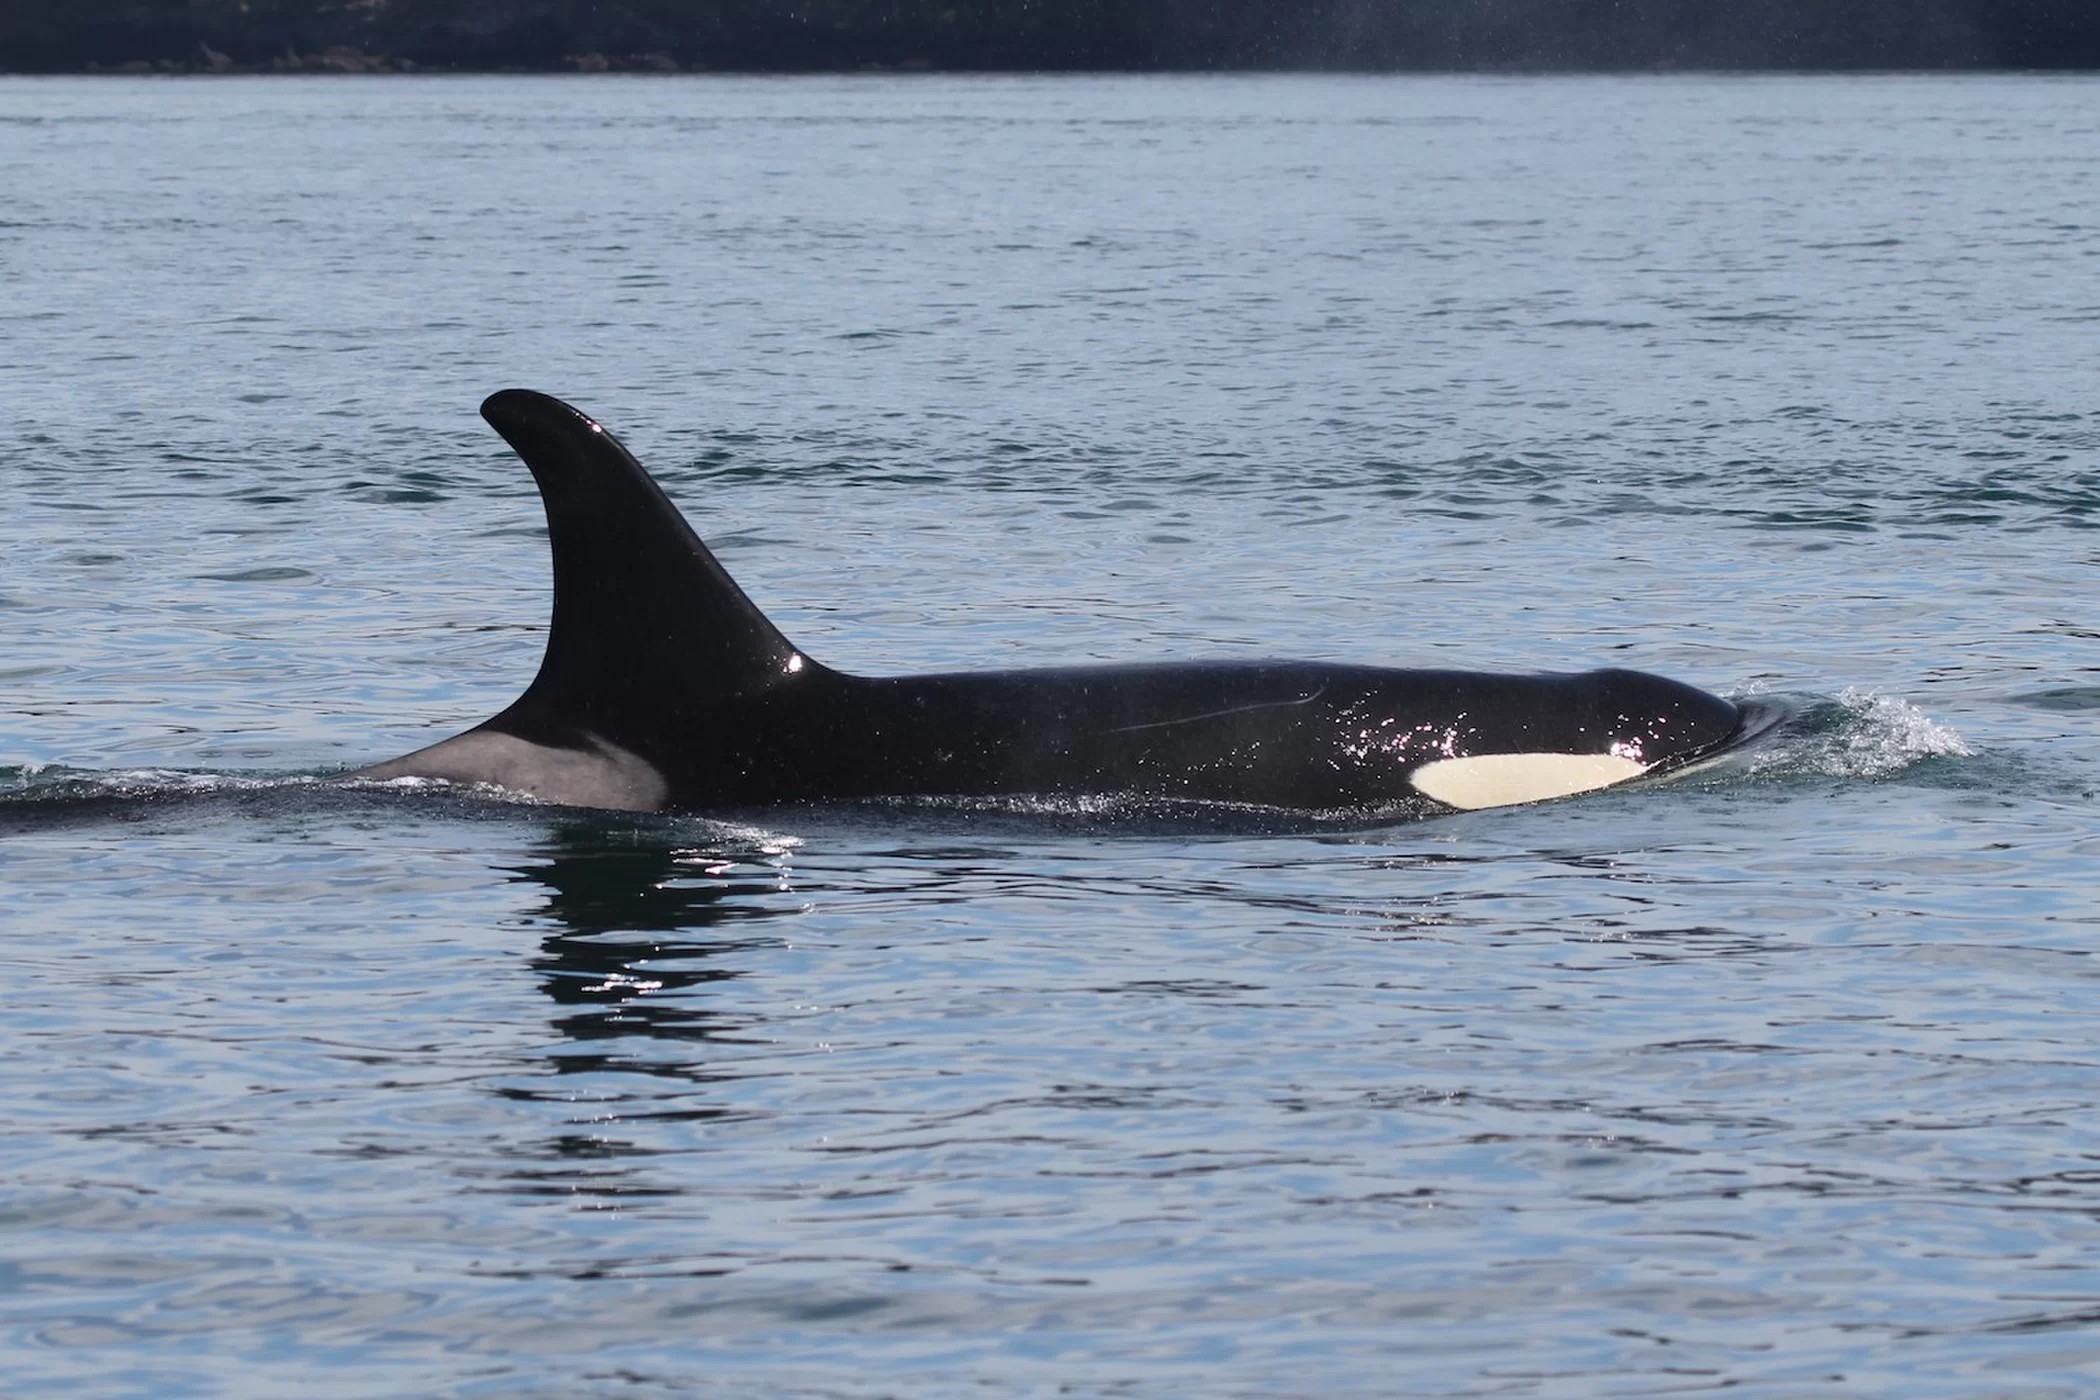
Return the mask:
{"type": "Polygon", "coordinates": [[[640,462],[561,399],[481,405],[540,485],[554,554],[546,657],[483,728],[542,743],[596,735],[647,751],[680,714],[821,670],[779,634],[640,462]]]}

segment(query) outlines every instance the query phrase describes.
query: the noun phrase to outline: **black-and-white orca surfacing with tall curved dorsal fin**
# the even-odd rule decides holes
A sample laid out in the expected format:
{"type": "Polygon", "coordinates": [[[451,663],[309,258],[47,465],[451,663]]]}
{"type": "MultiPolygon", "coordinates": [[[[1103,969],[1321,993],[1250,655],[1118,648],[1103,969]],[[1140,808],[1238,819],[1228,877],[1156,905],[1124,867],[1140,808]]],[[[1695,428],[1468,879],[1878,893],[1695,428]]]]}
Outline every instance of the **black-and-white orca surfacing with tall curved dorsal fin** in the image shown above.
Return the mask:
{"type": "Polygon", "coordinates": [[[508,709],[342,775],[613,810],[855,800],[1224,804],[1438,814],[1682,768],[1756,707],[1625,670],[1504,676],[1184,661],[848,676],[766,621],[649,472],[559,399],[481,416],[540,487],[554,615],[508,709]]]}

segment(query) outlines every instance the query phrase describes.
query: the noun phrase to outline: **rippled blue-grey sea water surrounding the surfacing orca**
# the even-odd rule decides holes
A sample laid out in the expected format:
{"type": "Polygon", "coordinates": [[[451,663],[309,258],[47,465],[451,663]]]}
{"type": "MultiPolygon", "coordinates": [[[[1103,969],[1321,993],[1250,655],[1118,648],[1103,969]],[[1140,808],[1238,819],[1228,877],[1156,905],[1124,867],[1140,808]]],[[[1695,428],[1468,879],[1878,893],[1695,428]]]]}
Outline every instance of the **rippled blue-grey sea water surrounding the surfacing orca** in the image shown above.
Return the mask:
{"type": "Polygon", "coordinates": [[[2100,80],[0,80],[0,1394],[2100,1390],[2100,80]],[[315,781],[571,399],[811,655],[1632,665],[1401,825],[315,781]]]}

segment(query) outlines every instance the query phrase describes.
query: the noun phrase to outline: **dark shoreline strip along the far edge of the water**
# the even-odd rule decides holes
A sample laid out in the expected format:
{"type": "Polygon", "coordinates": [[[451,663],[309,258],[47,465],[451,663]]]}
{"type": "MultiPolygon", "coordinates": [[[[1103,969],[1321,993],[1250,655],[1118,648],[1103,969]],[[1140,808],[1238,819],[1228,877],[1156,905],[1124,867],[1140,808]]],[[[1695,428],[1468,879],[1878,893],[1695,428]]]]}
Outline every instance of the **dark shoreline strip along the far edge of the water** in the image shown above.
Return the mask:
{"type": "Polygon", "coordinates": [[[0,69],[2100,67],[2100,0],[0,0],[0,69]]]}

